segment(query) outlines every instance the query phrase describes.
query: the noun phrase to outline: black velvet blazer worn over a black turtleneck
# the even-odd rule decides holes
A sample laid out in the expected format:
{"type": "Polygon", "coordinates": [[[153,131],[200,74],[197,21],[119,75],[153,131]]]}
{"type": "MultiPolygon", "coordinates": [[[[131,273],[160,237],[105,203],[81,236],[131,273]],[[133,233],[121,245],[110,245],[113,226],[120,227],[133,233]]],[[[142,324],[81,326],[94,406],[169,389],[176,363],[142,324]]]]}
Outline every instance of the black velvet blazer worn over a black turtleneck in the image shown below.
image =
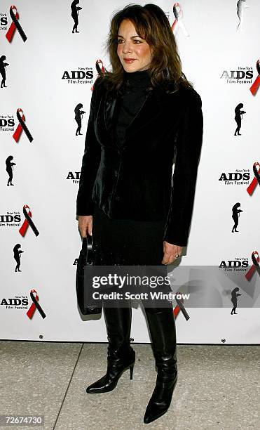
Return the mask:
{"type": "Polygon", "coordinates": [[[118,98],[104,79],[95,82],[76,201],[77,215],[93,215],[94,202],[115,219],[165,219],[164,240],[186,246],[203,137],[201,98],[182,86],[149,92],[116,141],[118,98]],[[172,165],[175,170],[172,176],[172,165]]]}

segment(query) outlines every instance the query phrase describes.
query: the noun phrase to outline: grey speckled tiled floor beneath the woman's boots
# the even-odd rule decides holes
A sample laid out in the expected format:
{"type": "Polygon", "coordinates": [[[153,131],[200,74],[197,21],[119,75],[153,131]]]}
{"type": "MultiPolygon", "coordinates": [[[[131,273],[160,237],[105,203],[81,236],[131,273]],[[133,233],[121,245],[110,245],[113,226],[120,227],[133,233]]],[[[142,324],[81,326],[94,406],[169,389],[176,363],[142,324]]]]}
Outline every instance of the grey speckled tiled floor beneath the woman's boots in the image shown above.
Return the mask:
{"type": "Polygon", "coordinates": [[[132,381],[126,371],[114,391],[87,394],[105,373],[107,344],[0,341],[0,415],[44,415],[40,430],[260,429],[260,346],[178,345],[172,405],[151,424],[143,416],[156,381],[153,353],[149,344],[133,348],[132,381]]]}

